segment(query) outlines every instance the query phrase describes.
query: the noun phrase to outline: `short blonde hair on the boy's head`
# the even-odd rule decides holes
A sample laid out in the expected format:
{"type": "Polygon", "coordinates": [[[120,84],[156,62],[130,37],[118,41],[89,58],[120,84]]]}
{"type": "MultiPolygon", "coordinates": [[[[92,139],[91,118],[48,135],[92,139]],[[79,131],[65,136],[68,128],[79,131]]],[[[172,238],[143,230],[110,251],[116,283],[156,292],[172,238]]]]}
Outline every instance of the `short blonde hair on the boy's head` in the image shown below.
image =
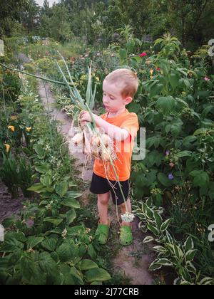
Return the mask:
{"type": "Polygon", "coordinates": [[[109,73],[105,80],[108,83],[122,83],[123,88],[121,90],[121,95],[123,98],[131,97],[136,94],[138,90],[138,76],[137,73],[133,73],[132,70],[128,68],[118,68],[109,73]]]}

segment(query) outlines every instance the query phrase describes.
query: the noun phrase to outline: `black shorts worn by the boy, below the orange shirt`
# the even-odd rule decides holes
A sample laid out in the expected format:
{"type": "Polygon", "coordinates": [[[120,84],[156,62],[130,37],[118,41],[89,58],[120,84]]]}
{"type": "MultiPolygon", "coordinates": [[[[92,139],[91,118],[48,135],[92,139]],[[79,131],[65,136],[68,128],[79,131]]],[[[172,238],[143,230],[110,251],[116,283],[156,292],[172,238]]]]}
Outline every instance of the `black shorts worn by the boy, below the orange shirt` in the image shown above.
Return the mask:
{"type": "Polygon", "coordinates": [[[98,175],[93,173],[90,187],[91,193],[104,194],[110,191],[113,203],[116,205],[123,204],[123,195],[127,201],[130,192],[129,180],[127,179],[126,181],[120,182],[123,194],[121,193],[121,189],[117,181],[109,180],[109,182],[108,179],[104,179],[103,177],[99,177],[98,175]],[[114,187],[112,187],[109,182],[111,182],[114,187]]]}

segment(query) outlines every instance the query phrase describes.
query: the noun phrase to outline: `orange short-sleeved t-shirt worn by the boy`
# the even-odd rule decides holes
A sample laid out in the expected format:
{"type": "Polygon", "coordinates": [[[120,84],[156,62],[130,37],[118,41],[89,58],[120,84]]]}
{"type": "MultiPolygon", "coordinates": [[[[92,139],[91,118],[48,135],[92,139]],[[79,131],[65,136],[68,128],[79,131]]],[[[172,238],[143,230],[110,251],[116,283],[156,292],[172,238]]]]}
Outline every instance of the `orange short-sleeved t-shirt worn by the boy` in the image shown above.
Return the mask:
{"type": "MultiPolygon", "coordinates": [[[[119,181],[126,181],[130,178],[131,156],[133,152],[134,138],[139,130],[138,116],[136,113],[128,112],[126,109],[116,117],[108,117],[108,112],[106,112],[105,114],[101,115],[101,118],[106,120],[106,122],[116,125],[117,127],[121,127],[121,129],[126,129],[129,132],[126,140],[120,142],[114,140],[114,150],[116,150],[118,159],[113,161],[113,165],[116,169],[119,181]]],[[[98,176],[108,178],[111,181],[117,180],[111,163],[103,162],[102,159],[95,159],[93,172],[98,176]]]]}

